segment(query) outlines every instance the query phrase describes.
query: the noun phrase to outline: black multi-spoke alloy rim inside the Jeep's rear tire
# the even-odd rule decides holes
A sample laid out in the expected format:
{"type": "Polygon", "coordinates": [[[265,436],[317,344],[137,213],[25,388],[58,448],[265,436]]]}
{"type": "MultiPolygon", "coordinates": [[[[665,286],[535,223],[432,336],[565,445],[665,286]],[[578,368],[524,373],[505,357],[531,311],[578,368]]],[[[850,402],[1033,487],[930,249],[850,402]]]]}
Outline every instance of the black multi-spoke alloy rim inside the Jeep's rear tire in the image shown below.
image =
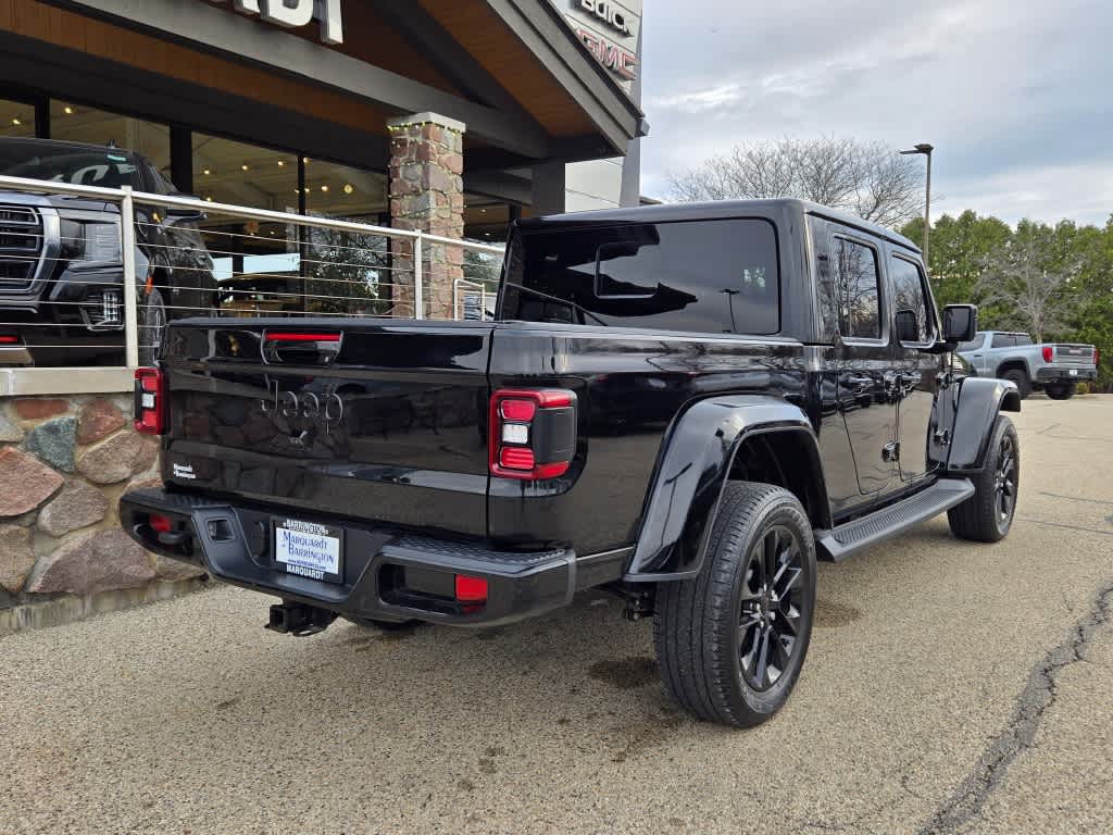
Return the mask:
{"type": "Polygon", "coordinates": [[[804,557],[796,533],[775,525],[754,543],[748,559],[738,651],[742,678],[755,690],[764,691],[789,669],[799,644],[804,557]]]}

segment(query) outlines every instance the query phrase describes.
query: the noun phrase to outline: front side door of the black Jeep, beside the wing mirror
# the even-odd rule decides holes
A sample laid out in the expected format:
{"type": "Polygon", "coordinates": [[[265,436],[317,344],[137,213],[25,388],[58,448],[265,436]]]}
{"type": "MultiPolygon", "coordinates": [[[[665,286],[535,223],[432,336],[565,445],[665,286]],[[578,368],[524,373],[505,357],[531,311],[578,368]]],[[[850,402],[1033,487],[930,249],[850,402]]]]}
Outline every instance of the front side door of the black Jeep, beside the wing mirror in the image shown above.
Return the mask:
{"type": "Polygon", "coordinates": [[[932,410],[939,391],[942,355],[927,351],[935,343],[937,325],[935,305],[928,303],[927,278],[919,262],[910,255],[890,250],[888,273],[893,285],[894,344],[899,363],[895,386],[899,472],[902,481],[913,481],[928,472],[932,410]],[[902,333],[898,318],[906,323],[913,320],[908,333],[902,333]]]}

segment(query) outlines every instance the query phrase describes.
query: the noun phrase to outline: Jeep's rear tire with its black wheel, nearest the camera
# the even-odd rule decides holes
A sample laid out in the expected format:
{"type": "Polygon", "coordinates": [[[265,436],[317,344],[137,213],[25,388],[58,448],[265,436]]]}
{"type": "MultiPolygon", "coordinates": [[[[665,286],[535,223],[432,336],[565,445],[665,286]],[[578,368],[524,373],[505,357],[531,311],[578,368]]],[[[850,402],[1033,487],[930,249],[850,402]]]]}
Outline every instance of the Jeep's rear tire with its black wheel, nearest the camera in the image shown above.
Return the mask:
{"type": "Polygon", "coordinates": [[[815,602],[816,548],[800,502],[771,484],[727,484],[699,574],[658,587],[666,689],[700,719],[767,720],[799,677],[815,602]]]}

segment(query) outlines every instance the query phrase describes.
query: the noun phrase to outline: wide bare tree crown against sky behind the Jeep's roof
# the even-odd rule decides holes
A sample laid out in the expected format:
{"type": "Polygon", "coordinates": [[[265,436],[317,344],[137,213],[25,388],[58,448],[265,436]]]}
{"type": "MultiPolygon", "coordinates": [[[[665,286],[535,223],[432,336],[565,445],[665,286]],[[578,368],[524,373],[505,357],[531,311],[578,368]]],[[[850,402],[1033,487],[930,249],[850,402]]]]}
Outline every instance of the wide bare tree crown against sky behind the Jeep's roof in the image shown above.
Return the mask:
{"type": "Polygon", "coordinates": [[[900,226],[923,205],[923,175],[884,143],[785,137],[735,146],[670,177],[681,202],[800,197],[900,226]]]}

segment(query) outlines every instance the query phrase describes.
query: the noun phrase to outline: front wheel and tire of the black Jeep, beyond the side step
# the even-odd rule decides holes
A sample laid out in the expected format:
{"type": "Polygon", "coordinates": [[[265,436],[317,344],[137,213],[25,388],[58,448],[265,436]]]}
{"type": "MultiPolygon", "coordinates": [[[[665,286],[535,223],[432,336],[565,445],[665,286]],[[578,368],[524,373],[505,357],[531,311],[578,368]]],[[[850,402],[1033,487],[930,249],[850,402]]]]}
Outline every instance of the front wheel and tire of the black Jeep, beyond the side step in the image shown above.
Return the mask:
{"type": "Polygon", "coordinates": [[[1021,446],[1016,429],[997,415],[985,455],[985,466],[974,478],[974,495],[947,511],[951,531],[959,539],[997,542],[1013,527],[1020,488],[1021,446]]]}

